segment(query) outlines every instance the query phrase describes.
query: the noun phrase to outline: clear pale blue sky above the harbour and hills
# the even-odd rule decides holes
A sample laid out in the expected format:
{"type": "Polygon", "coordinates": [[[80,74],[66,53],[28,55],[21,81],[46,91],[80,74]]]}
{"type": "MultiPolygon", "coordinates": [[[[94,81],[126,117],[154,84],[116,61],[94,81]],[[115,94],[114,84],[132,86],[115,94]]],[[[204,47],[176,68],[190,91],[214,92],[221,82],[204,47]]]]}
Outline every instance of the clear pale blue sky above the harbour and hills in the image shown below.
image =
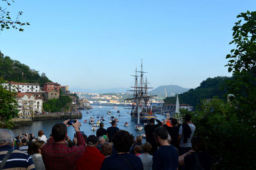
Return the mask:
{"type": "MultiPolygon", "coordinates": [[[[3,2],[0,3],[3,5],[3,2]]],[[[195,88],[207,78],[231,76],[236,16],[256,1],[94,0],[11,3],[24,32],[0,33],[4,55],[70,89],[128,88],[147,71],[151,87],[195,88]]]]}

